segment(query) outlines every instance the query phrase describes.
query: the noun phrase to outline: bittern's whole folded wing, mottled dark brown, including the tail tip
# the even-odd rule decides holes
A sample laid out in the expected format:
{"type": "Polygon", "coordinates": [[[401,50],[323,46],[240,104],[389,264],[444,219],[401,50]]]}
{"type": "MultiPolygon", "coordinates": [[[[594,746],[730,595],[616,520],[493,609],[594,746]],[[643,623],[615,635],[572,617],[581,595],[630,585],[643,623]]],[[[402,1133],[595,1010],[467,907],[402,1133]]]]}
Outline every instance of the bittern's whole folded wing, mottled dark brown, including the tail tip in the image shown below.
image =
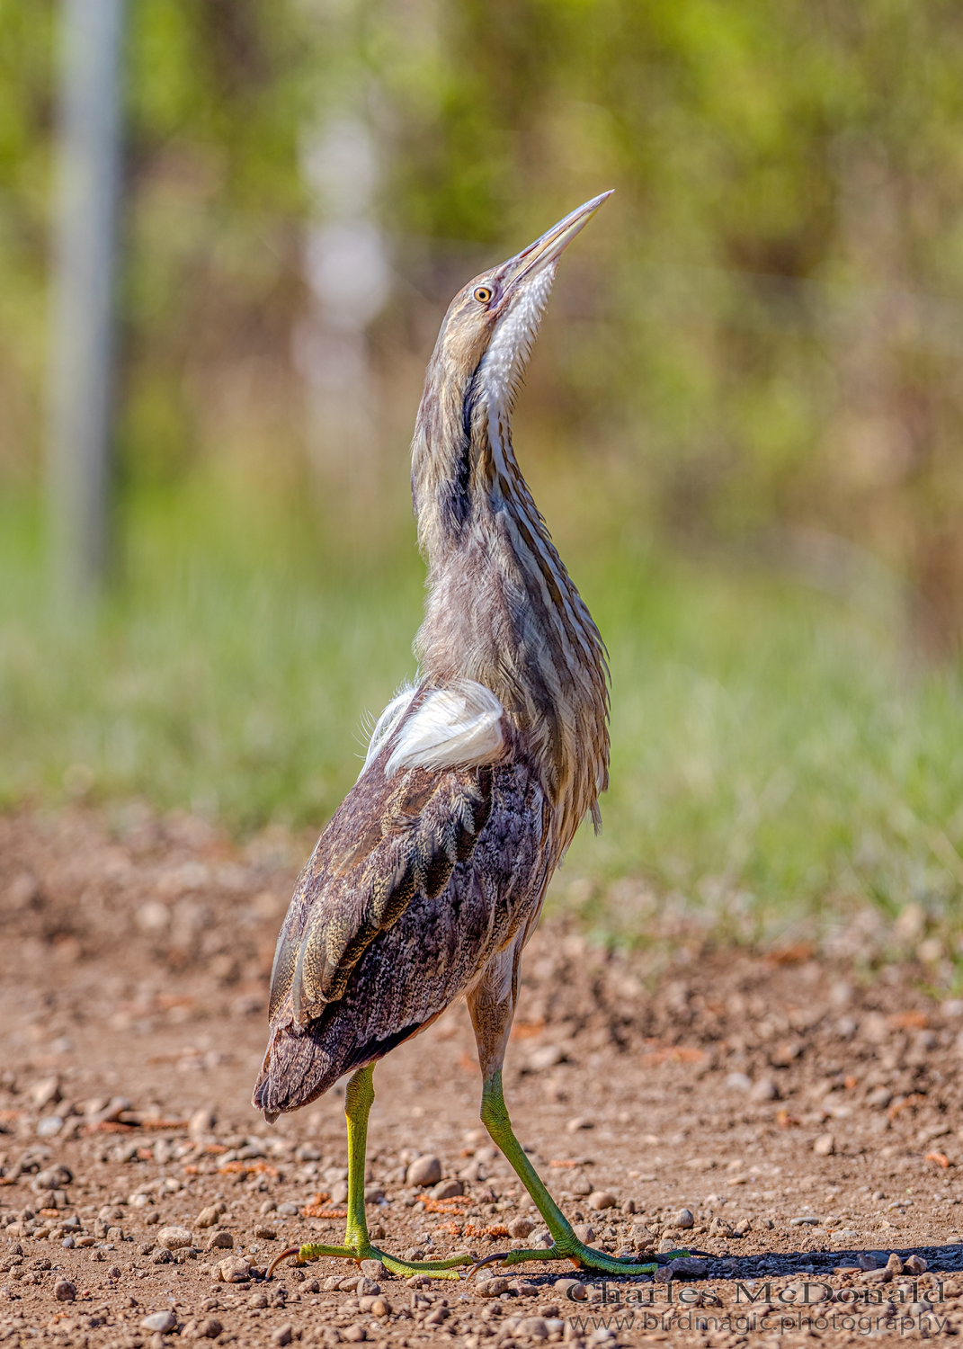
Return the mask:
{"type": "Polygon", "coordinates": [[[254,1093],[268,1117],[415,1035],[530,931],[549,809],[523,764],[366,773],[318,842],[278,942],[254,1093]],[[366,778],[370,781],[366,782],[366,778]]]}

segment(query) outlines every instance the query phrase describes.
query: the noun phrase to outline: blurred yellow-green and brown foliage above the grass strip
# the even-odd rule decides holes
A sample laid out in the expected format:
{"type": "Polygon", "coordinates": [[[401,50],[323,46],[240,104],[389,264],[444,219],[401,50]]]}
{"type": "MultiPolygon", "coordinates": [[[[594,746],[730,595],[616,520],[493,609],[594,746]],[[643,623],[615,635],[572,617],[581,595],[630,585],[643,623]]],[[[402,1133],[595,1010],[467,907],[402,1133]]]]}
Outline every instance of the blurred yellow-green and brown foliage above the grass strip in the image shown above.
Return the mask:
{"type": "MultiPolygon", "coordinates": [[[[8,479],[36,440],[49,28],[46,4],[0,4],[8,479]]],[[[577,449],[579,509],[604,500],[677,542],[762,542],[816,573],[829,554],[807,563],[800,540],[843,536],[909,577],[933,642],[955,641],[959,7],[132,0],[128,483],[212,457],[298,480],[291,333],[318,219],[299,144],[345,82],[394,258],[370,325],[394,457],[452,285],[615,186],[539,344],[534,459],[577,449]]]]}

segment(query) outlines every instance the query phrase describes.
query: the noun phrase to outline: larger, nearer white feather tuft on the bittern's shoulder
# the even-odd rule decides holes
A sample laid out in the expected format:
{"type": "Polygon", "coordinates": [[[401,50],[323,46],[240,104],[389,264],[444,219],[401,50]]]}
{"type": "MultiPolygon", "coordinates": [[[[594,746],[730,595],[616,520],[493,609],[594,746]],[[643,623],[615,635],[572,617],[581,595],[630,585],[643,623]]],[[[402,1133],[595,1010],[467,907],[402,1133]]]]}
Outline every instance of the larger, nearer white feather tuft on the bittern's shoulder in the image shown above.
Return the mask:
{"type": "MultiPolygon", "coordinates": [[[[391,757],[384,765],[386,776],[391,777],[402,768],[472,768],[494,764],[504,749],[502,711],[502,704],[491,689],[473,680],[436,689],[398,733],[391,757]]],[[[382,720],[386,716],[387,710],[382,720]]],[[[379,722],[378,726],[380,724],[379,722]]]]}

